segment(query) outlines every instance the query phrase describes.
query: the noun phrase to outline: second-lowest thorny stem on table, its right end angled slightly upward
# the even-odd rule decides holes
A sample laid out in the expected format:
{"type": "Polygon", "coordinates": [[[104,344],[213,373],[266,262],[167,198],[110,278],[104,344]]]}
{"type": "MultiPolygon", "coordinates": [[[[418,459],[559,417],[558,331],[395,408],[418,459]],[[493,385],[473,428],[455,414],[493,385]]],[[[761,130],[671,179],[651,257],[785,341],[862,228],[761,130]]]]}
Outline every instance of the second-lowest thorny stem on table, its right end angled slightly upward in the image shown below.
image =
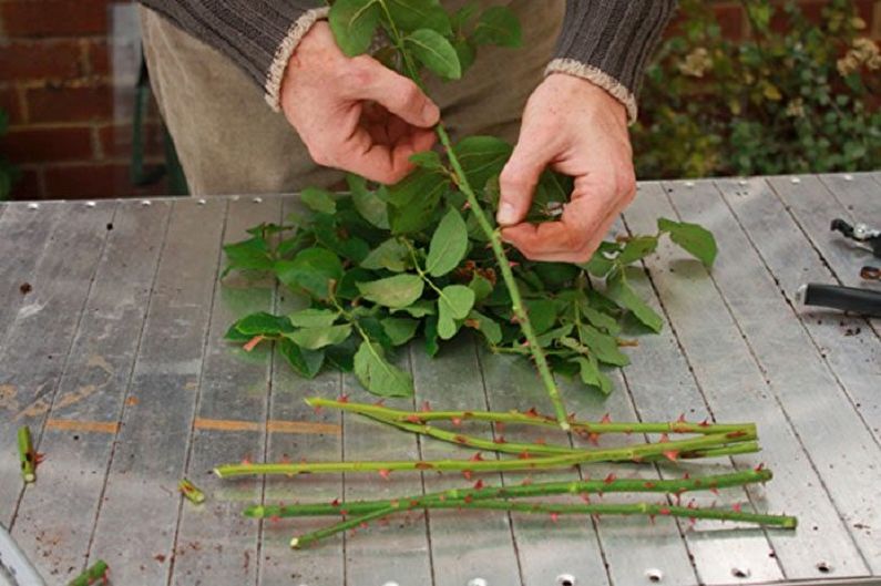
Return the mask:
{"type": "MultiPolygon", "coordinates": [[[[768,482],[774,477],[770,470],[748,470],[730,474],[676,480],[614,479],[570,482],[543,482],[519,486],[484,486],[481,489],[452,489],[419,496],[420,503],[432,501],[484,501],[499,498],[530,498],[557,494],[608,494],[608,493],[664,493],[682,495],[694,491],[716,491],[768,482]]],[[[411,498],[403,498],[406,503],[411,498]]],[[[399,500],[355,501],[332,503],[303,503],[290,505],[253,505],[243,511],[250,518],[286,518],[305,516],[365,515],[381,508],[396,506],[399,500]]]]}

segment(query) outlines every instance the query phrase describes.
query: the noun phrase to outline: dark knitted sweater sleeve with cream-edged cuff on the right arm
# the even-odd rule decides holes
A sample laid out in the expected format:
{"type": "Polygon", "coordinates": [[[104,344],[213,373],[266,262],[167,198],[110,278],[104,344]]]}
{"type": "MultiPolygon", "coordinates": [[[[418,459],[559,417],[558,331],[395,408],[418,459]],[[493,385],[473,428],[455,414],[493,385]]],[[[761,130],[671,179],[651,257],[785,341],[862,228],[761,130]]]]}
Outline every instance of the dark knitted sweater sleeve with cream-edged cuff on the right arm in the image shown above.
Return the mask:
{"type": "Polygon", "coordinates": [[[636,120],[636,95],[675,0],[568,0],[545,73],[567,73],[606,90],[636,120]]]}

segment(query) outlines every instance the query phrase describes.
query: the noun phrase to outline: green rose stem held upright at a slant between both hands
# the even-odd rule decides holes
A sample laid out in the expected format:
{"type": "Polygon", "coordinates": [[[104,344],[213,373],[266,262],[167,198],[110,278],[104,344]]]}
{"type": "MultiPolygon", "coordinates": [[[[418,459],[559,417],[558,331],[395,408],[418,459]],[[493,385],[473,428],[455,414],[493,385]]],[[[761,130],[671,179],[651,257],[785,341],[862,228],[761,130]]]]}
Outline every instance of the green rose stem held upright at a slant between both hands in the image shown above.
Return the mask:
{"type": "MultiPolygon", "coordinates": [[[[389,12],[385,2],[380,2],[379,4],[382,7],[383,12],[386,13],[386,19],[388,20],[389,25],[389,35],[391,37],[391,41],[395,43],[395,47],[401,53],[407,75],[413,80],[417,85],[419,85],[421,89],[424,89],[422,78],[419,75],[419,71],[413,64],[410,54],[407,52],[407,49],[404,49],[403,39],[398,31],[398,27],[395,24],[395,19],[391,18],[391,13],[389,12]]],[[[478,196],[474,194],[474,189],[471,188],[468,176],[465,175],[464,171],[462,171],[462,165],[459,164],[459,158],[455,156],[455,151],[453,150],[452,143],[450,142],[450,136],[447,134],[447,128],[444,128],[442,123],[438,123],[438,125],[434,127],[434,131],[437,132],[438,137],[440,138],[441,144],[447,152],[447,156],[450,160],[450,165],[453,167],[453,172],[455,174],[453,179],[455,184],[459,186],[462,193],[465,194],[465,197],[468,198],[468,205],[474,213],[478,224],[490,239],[490,246],[492,247],[493,255],[495,256],[495,261],[499,264],[499,269],[502,273],[502,279],[504,280],[505,286],[508,287],[508,292],[511,296],[511,309],[514,312],[518,323],[520,323],[520,329],[526,337],[526,342],[529,343],[530,351],[532,352],[532,359],[535,362],[535,368],[539,370],[539,376],[541,377],[545,389],[547,389],[547,395],[551,399],[551,403],[554,405],[554,413],[556,414],[557,424],[563,431],[568,431],[568,413],[566,413],[563,399],[560,397],[560,389],[557,388],[556,381],[551,373],[551,368],[547,366],[547,359],[545,358],[544,351],[539,343],[539,338],[535,336],[535,330],[532,329],[532,322],[530,322],[529,315],[526,313],[525,306],[523,305],[523,298],[521,297],[520,289],[518,288],[516,281],[514,280],[514,274],[511,271],[511,265],[508,260],[508,256],[504,253],[500,233],[492,227],[492,224],[490,224],[490,220],[486,218],[486,214],[480,206],[478,196]]]]}

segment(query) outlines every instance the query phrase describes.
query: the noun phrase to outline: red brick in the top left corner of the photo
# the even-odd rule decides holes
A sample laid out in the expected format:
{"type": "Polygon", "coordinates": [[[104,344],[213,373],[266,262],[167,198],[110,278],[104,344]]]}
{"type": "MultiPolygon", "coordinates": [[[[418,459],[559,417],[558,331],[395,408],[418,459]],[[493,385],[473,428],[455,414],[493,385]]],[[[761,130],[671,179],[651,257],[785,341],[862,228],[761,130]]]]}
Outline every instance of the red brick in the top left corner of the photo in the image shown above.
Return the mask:
{"type": "Polygon", "coordinates": [[[107,0],[8,0],[0,2],[7,37],[75,37],[107,30],[107,0]]]}

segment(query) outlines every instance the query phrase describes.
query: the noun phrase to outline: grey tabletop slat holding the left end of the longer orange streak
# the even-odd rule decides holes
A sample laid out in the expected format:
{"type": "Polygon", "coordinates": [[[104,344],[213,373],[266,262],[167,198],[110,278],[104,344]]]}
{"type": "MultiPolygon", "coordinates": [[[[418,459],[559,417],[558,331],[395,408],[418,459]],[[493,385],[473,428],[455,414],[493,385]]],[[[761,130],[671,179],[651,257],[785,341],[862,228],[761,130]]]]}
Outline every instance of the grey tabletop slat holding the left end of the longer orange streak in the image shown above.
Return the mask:
{"type": "MultiPolygon", "coordinates": [[[[277,197],[231,202],[224,244],[249,238],[248,228],[260,223],[277,223],[280,215],[281,202],[277,197]]],[[[225,263],[224,259],[222,265],[225,263]]],[[[266,421],[269,348],[264,345],[248,353],[233,348],[223,337],[236,319],[256,311],[272,311],[274,294],[273,279],[254,282],[238,274],[226,277],[215,288],[196,418],[266,421]]],[[[243,459],[260,460],[265,428],[258,430],[203,426],[193,431],[184,476],[202,489],[207,500],[202,505],[182,501],[172,584],[189,585],[195,579],[217,586],[256,583],[259,525],[243,517],[242,507],[248,501],[259,501],[262,481],[243,479],[236,482],[236,498],[227,500],[215,495],[229,482],[218,479],[212,470],[243,459]]]]}

